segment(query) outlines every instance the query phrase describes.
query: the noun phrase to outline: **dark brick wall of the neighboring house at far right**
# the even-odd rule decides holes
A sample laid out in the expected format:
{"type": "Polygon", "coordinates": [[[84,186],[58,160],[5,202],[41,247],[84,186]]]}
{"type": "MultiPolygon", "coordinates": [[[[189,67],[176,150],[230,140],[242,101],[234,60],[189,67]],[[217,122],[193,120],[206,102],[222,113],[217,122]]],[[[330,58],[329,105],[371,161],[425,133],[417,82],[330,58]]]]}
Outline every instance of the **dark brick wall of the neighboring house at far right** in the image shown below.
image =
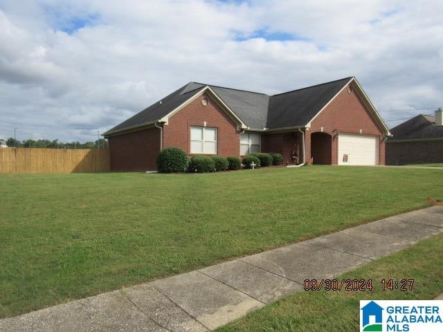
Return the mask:
{"type": "Polygon", "coordinates": [[[443,163],[443,138],[428,142],[388,142],[386,165],[443,163]]]}

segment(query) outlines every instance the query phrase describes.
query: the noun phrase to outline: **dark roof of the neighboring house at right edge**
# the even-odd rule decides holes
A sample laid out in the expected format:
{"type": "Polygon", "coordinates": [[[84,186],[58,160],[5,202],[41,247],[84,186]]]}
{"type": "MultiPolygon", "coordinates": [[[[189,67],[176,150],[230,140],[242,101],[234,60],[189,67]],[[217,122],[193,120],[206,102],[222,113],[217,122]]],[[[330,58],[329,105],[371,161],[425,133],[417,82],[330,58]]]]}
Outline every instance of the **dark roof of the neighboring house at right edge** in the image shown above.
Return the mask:
{"type": "Polygon", "coordinates": [[[389,141],[396,140],[426,140],[443,138],[443,126],[435,125],[435,117],[420,114],[414,118],[390,129],[392,137],[389,141]]]}

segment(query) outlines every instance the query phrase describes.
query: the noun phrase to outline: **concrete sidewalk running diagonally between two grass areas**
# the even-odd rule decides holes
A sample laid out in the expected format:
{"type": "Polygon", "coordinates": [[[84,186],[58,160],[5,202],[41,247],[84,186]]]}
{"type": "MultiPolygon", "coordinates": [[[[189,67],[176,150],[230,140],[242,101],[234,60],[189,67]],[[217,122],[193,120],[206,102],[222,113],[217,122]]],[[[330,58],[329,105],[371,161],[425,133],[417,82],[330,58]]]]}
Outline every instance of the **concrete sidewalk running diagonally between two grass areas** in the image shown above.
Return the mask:
{"type": "Polygon", "coordinates": [[[0,331],[208,331],[443,231],[443,206],[0,320],[0,331]]]}

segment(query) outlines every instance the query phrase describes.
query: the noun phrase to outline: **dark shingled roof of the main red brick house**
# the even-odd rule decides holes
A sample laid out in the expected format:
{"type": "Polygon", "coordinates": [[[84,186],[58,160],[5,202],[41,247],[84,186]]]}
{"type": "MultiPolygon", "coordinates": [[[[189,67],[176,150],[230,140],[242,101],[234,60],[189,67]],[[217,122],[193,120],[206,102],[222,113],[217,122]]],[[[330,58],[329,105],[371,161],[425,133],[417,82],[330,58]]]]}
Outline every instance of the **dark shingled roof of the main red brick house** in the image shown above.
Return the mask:
{"type": "MultiPolygon", "coordinates": [[[[118,124],[104,135],[143,127],[153,122],[162,122],[187,100],[208,89],[226,105],[228,111],[233,113],[237,120],[242,122],[242,128],[267,130],[303,127],[352,80],[355,80],[354,77],[346,77],[278,95],[190,82],[163,98],[161,102],[152,104],[132,118],[118,124]]],[[[358,83],[356,84],[359,86],[358,83]]],[[[370,106],[372,107],[372,104],[370,106]]],[[[374,113],[377,114],[377,111],[374,110],[374,113]]],[[[382,121],[381,124],[384,127],[382,121]]],[[[386,132],[388,132],[387,128],[386,132]]]]}

